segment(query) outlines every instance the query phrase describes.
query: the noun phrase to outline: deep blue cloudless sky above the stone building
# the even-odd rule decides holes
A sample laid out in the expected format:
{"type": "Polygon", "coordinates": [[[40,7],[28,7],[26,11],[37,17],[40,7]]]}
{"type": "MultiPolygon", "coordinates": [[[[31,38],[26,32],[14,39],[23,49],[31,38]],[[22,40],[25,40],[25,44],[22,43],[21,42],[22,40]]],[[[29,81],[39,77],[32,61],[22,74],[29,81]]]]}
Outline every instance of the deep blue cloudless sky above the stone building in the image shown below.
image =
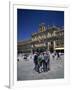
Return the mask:
{"type": "Polygon", "coordinates": [[[30,39],[41,23],[64,26],[64,11],[17,9],[17,41],[30,39]]]}

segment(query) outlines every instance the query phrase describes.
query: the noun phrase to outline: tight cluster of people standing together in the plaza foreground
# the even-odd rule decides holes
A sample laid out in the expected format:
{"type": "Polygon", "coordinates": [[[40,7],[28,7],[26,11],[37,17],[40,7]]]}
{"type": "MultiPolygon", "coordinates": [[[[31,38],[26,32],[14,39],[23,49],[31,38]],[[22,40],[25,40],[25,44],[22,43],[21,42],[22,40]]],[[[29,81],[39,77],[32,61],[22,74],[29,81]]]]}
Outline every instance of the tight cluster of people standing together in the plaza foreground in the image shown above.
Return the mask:
{"type": "Polygon", "coordinates": [[[38,73],[50,70],[50,55],[48,52],[34,53],[34,70],[38,73]]]}

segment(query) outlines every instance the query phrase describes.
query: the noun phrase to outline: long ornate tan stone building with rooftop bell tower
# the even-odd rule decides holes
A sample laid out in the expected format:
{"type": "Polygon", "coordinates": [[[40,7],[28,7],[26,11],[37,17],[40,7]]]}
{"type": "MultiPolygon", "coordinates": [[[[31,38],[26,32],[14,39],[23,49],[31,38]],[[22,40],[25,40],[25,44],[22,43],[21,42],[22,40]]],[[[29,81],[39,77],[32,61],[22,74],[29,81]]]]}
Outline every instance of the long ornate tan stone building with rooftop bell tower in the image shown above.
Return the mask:
{"type": "Polygon", "coordinates": [[[64,28],[57,26],[39,25],[38,32],[32,34],[32,38],[27,41],[18,42],[18,52],[32,52],[33,50],[64,50],[64,28]]]}

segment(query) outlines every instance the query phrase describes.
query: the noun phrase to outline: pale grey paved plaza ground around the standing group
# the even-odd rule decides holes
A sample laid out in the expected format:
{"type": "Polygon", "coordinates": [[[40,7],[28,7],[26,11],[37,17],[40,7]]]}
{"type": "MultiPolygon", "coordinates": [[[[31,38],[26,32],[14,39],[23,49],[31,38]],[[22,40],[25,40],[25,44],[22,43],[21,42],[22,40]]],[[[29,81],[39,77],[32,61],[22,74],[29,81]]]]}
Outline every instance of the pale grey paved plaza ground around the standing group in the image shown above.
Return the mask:
{"type": "Polygon", "coordinates": [[[53,59],[50,56],[50,71],[37,73],[33,60],[21,59],[17,62],[17,80],[39,80],[39,79],[60,79],[64,78],[64,56],[61,59],[53,59]]]}

